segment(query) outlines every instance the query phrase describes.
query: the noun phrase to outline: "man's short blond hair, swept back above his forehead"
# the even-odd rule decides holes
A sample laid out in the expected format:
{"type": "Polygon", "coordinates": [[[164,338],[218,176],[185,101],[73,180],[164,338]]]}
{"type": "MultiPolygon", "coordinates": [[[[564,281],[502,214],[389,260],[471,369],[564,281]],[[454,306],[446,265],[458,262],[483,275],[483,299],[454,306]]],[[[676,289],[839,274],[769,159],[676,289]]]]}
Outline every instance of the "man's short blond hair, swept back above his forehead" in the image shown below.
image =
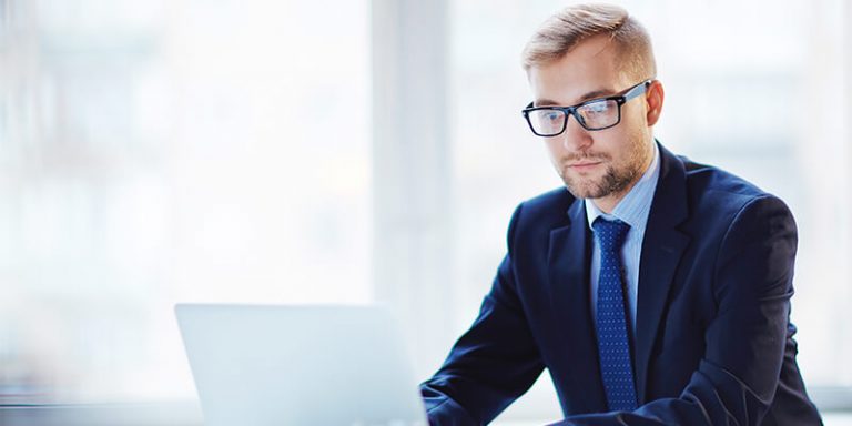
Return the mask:
{"type": "Polygon", "coordinates": [[[524,48],[524,70],[557,61],[582,41],[601,34],[615,42],[621,72],[637,79],[657,75],[648,31],[627,10],[611,4],[569,6],[550,17],[524,48]]]}

